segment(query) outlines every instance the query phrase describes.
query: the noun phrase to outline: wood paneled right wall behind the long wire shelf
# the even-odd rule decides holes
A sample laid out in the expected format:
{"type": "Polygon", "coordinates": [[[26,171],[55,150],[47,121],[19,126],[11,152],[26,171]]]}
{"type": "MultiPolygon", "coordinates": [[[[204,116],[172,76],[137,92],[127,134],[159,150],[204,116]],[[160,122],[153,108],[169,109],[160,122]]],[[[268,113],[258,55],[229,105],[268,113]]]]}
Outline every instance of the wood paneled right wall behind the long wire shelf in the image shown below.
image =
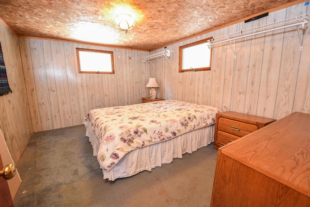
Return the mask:
{"type": "Polygon", "coordinates": [[[175,52],[170,57],[172,65],[165,58],[152,61],[158,96],[275,119],[294,111],[310,113],[309,23],[305,33],[299,31],[303,50],[293,27],[232,41],[236,58],[229,43],[214,45],[211,71],[178,72],[180,46],[307,13],[309,5],[301,3],[168,46],[175,52]]]}

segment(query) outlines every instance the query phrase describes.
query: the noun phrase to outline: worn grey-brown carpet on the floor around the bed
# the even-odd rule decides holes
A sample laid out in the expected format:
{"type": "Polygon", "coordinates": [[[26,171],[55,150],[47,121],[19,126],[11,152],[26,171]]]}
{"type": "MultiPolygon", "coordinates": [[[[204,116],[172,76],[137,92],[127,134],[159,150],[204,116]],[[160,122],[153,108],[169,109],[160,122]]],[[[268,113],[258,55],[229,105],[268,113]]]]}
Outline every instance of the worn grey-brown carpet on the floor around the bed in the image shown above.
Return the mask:
{"type": "Polygon", "coordinates": [[[16,207],[209,207],[213,144],[152,172],[103,179],[83,125],[33,135],[16,167],[16,207]]]}

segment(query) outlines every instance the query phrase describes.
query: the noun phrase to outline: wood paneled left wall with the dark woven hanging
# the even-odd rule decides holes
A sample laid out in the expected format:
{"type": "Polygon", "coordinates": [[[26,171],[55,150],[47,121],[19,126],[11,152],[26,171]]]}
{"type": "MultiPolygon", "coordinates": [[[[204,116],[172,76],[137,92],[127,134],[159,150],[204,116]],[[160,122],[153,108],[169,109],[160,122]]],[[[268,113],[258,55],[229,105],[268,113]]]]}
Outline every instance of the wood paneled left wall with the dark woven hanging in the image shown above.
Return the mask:
{"type": "Polygon", "coordinates": [[[9,85],[13,91],[12,94],[0,96],[0,128],[11,156],[17,163],[33,134],[33,129],[18,38],[1,22],[0,42],[9,85]]]}

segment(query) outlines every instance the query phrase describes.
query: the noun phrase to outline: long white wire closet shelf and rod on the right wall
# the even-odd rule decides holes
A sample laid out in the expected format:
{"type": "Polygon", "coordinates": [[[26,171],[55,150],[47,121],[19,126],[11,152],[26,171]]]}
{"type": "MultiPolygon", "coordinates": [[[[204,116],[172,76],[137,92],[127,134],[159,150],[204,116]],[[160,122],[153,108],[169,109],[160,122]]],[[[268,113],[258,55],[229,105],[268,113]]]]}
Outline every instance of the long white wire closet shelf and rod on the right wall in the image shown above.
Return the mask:
{"type": "MultiPolygon", "coordinates": [[[[278,21],[278,22],[266,24],[266,25],[263,25],[263,26],[251,28],[251,29],[248,29],[248,30],[244,30],[244,31],[240,31],[240,32],[235,32],[235,33],[232,33],[232,34],[224,35],[224,36],[221,36],[221,37],[218,37],[218,38],[214,38],[214,39],[208,40],[207,43],[208,43],[208,47],[212,48],[212,46],[216,45],[216,44],[220,44],[220,43],[224,43],[224,42],[229,42],[231,40],[236,40],[236,39],[240,39],[240,38],[244,38],[244,37],[248,37],[248,36],[253,36],[253,35],[261,34],[261,33],[265,33],[265,32],[272,32],[272,31],[275,31],[275,30],[285,29],[285,28],[294,27],[294,26],[296,26],[297,29],[298,29],[299,25],[302,25],[302,29],[305,30],[306,29],[306,24],[308,23],[309,20],[310,20],[310,17],[309,17],[308,14],[304,14],[304,15],[301,15],[301,16],[295,16],[295,17],[290,18],[290,19],[285,19],[285,20],[282,20],[282,21],[278,21]],[[283,24],[286,24],[286,25],[282,26],[283,24]],[[271,28],[271,29],[265,30],[267,28],[271,28]],[[260,31],[260,30],[263,30],[263,31],[260,31]],[[260,31],[260,32],[255,32],[255,31],[260,31]],[[249,33],[249,32],[253,32],[253,33],[249,33]],[[241,35],[241,36],[237,36],[237,35],[241,35]],[[233,36],[237,36],[237,37],[233,37],[233,36]],[[233,37],[233,38],[230,39],[229,37],[233,37]],[[222,39],[225,39],[225,40],[222,40],[222,39]],[[219,40],[222,40],[222,41],[219,41],[219,40]]],[[[298,30],[297,30],[297,32],[298,32],[298,30]]],[[[298,32],[298,38],[299,38],[300,45],[302,45],[299,32],[298,32]]],[[[229,44],[230,44],[230,42],[229,42],[229,44]]],[[[302,46],[300,47],[300,49],[302,50],[302,46]]]]}

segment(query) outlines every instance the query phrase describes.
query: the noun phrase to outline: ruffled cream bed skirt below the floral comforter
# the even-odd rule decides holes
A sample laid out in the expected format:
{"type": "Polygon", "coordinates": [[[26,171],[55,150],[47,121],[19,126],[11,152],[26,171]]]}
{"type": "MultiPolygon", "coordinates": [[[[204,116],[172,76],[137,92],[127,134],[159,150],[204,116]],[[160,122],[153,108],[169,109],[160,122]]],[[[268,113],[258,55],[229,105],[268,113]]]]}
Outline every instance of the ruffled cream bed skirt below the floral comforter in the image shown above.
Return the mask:
{"type": "MultiPolygon", "coordinates": [[[[190,131],[165,142],[142,147],[126,154],[116,165],[109,170],[102,170],[103,178],[111,181],[117,178],[129,177],[142,171],[151,171],[162,164],[168,164],[174,158],[182,158],[186,152],[191,154],[197,149],[213,142],[215,125],[190,131]]],[[[97,156],[99,140],[91,123],[86,127],[86,136],[93,146],[93,156],[97,156]]],[[[100,160],[97,157],[98,162],[100,160]]]]}

